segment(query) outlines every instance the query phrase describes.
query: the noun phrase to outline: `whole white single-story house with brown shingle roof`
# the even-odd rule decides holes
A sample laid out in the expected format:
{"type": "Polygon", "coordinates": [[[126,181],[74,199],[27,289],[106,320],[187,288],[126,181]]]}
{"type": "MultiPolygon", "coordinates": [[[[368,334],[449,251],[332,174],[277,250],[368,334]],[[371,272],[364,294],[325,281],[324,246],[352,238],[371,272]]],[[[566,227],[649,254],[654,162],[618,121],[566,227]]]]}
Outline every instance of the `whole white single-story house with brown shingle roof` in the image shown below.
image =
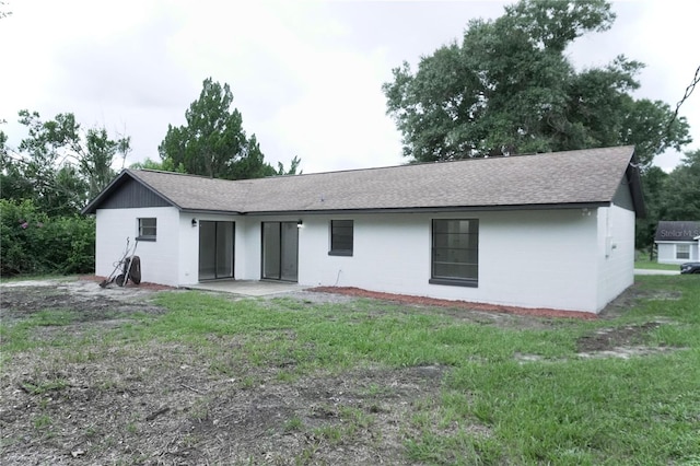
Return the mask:
{"type": "Polygon", "coordinates": [[[633,282],[632,147],[222,180],[125,170],[96,214],[100,276],[283,280],[597,313],[633,282]]]}

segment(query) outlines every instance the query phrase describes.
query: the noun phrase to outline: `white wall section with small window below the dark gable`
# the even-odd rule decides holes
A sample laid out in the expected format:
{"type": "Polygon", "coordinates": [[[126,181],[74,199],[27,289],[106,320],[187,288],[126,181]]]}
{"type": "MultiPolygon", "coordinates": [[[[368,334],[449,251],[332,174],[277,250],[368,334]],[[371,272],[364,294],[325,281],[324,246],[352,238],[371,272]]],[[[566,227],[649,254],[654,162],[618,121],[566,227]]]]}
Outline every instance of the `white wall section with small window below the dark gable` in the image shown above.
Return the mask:
{"type": "Polygon", "coordinates": [[[95,273],[107,277],[114,271],[127,237],[133,246],[139,235],[140,218],[156,219],[156,240],[140,241],[136,251],[141,258],[141,281],[177,286],[180,228],[179,212],[174,207],[97,209],[95,273]]]}

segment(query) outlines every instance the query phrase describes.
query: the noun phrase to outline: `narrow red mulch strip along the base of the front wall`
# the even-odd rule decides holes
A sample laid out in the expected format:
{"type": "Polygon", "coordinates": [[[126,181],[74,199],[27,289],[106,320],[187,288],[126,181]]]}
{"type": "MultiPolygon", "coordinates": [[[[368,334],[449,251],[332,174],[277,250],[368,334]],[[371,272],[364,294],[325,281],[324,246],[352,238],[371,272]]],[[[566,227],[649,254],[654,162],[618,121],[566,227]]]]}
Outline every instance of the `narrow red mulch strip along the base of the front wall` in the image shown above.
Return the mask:
{"type": "Polygon", "coordinates": [[[467,301],[438,300],[434,298],[412,296],[408,294],[381,293],[378,291],[369,291],[353,287],[316,287],[308,291],[317,291],[320,293],[338,293],[351,296],[372,298],[375,300],[394,301],[401,304],[418,304],[424,306],[457,307],[464,310],[499,312],[505,314],[517,314],[532,317],[557,317],[557,318],[580,318],[592,321],[597,318],[596,314],[580,311],[561,311],[550,308],[529,308],[516,306],[502,306],[498,304],[470,303],[467,301]]]}

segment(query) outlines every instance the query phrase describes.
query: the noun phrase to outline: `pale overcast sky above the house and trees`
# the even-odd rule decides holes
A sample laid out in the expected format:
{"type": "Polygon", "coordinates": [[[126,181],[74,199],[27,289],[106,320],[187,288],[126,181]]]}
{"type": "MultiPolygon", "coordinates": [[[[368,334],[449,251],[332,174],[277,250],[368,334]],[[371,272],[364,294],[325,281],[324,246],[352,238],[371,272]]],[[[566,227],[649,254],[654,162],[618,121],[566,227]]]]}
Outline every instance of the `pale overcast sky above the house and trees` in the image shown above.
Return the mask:
{"type": "MultiPolygon", "coordinates": [[[[467,22],[506,2],[14,0],[0,20],[0,119],[10,145],[22,108],[72,112],[84,127],[131,137],[127,165],[158,160],[167,125],[182,125],[201,82],[231,85],[247,133],[266,160],[302,159],[305,173],[396,165],[400,135],[382,83],[402,60],[459,39],[467,22]]],[[[615,56],[646,63],[638,97],[674,106],[700,66],[700,2],[614,2],[612,30],[579,39],[576,67],[615,56]]],[[[700,91],[680,112],[700,148],[700,91]]],[[[672,170],[680,154],[657,164],[672,170]]]]}

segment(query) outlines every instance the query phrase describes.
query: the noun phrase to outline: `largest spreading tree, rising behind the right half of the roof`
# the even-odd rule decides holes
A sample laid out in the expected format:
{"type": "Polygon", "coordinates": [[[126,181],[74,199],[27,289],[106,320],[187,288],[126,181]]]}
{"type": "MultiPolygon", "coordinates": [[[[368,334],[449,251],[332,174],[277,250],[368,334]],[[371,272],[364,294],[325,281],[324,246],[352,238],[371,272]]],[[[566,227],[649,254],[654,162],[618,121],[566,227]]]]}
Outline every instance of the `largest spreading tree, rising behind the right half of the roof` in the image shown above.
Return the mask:
{"type": "Polygon", "coordinates": [[[605,0],[523,0],[468,23],[460,44],[407,62],[384,84],[404,155],[429,162],[634,144],[643,168],[690,142],[688,124],[660,101],[635,100],[643,65],[618,56],[576,71],[578,37],[611,27],[605,0]]]}

